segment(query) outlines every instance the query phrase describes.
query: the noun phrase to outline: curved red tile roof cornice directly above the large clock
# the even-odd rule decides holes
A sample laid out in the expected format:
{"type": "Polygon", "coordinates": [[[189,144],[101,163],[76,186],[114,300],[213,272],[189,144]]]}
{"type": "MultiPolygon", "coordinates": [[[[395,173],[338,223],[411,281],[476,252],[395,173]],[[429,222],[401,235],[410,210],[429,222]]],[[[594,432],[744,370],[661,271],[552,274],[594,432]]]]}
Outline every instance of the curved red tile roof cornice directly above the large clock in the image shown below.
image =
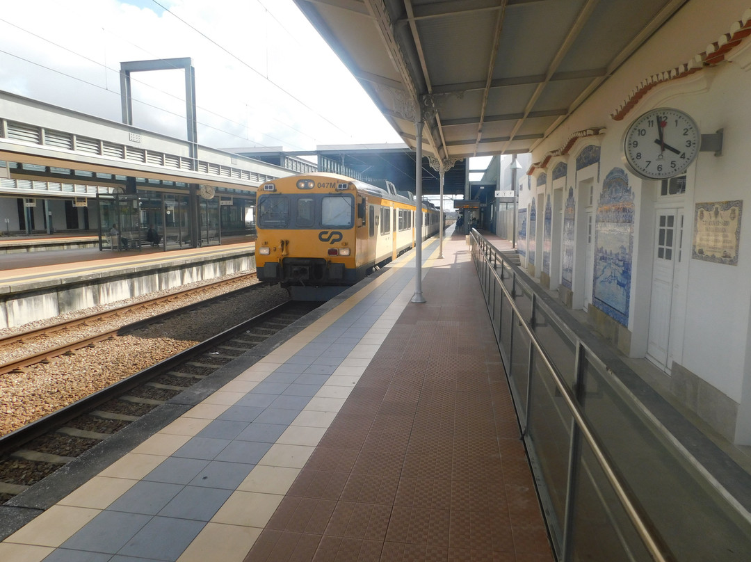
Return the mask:
{"type": "Polygon", "coordinates": [[[733,22],[728,33],[723,33],[717,41],[707,45],[703,53],[698,53],[693,59],[683,65],[671,68],[669,71],[652,74],[652,76],[642,80],[632,90],[626,101],[620,104],[614,113],[611,113],[611,118],[615,121],[623,119],[638,104],[639,100],[658,84],[677,80],[678,78],[694,74],[702,68],[716,66],[724,62],[725,56],[749,35],[751,35],[751,8],[743,12],[740,20],[733,22]]]}

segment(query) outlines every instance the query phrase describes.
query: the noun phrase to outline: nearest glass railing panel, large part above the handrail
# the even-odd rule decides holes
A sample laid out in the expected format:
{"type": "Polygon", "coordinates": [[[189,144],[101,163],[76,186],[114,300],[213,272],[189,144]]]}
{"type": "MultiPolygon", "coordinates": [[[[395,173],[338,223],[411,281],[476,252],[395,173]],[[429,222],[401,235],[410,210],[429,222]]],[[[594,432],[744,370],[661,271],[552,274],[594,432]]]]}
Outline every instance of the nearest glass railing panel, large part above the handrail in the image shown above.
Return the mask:
{"type": "Polygon", "coordinates": [[[584,415],[676,559],[751,560],[751,524],[596,365],[584,361],[584,415]]]}

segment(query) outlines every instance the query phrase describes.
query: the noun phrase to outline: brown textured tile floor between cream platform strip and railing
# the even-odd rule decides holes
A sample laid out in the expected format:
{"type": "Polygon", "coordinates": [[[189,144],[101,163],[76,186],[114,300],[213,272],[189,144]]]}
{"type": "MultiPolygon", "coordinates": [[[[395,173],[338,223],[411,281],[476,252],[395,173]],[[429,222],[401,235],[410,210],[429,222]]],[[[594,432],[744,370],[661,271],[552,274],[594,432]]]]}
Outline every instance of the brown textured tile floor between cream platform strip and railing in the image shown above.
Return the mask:
{"type": "Polygon", "coordinates": [[[246,562],[553,560],[464,237],[444,255],[246,562]]]}

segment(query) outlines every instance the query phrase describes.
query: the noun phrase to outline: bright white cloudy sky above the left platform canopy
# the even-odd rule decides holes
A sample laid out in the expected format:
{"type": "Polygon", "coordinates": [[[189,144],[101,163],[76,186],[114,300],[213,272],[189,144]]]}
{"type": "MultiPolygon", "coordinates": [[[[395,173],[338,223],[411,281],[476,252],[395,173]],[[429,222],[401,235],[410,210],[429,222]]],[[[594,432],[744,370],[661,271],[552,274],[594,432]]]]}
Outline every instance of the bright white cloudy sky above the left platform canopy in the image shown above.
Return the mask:
{"type": "MultiPolygon", "coordinates": [[[[201,144],[400,142],[291,0],[6,4],[0,89],[119,121],[120,62],[190,57],[201,144]]],[[[131,80],[134,125],[185,137],[182,71],[131,80]]]]}

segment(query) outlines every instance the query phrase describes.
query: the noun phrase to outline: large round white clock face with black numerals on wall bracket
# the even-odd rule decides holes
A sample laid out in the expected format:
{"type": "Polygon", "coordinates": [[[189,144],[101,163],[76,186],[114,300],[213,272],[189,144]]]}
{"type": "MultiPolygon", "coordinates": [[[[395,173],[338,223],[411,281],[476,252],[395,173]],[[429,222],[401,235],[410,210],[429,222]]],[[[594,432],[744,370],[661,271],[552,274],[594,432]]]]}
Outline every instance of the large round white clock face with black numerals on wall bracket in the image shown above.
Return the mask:
{"type": "Polygon", "coordinates": [[[683,174],[698,154],[701,134],[683,111],[660,107],[626,129],[623,150],[631,171],[648,180],[683,174]]]}

